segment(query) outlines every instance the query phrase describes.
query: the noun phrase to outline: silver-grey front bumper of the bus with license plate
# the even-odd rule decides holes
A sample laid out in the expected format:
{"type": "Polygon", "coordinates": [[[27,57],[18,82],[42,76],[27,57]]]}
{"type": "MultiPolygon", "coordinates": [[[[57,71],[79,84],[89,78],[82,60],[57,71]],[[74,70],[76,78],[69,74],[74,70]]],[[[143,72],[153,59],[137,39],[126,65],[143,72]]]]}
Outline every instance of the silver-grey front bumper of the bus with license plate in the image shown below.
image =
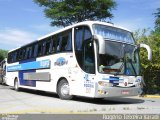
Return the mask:
{"type": "Polygon", "coordinates": [[[107,97],[128,97],[137,96],[142,93],[140,87],[107,87],[98,88],[96,90],[95,98],[107,98],[107,97]]]}

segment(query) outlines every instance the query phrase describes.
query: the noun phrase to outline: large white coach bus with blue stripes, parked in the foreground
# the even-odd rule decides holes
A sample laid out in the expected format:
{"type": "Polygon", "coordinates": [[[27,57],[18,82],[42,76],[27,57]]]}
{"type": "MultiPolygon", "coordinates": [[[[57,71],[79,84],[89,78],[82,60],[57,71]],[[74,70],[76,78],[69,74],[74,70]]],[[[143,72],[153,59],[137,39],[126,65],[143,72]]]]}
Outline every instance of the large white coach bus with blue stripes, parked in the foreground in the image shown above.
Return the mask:
{"type": "Polygon", "coordinates": [[[6,81],[57,93],[61,99],[137,96],[142,93],[139,50],[132,33],[114,24],[84,21],[9,51],[6,81]]]}

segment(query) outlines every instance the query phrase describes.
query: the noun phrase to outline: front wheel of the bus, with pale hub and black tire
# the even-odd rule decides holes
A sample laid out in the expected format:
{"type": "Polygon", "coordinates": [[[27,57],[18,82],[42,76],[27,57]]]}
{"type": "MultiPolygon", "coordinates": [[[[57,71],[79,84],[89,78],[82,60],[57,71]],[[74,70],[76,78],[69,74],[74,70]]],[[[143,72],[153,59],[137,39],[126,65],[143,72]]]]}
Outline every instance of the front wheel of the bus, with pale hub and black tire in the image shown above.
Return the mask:
{"type": "Polygon", "coordinates": [[[58,83],[58,88],[57,88],[57,93],[58,96],[60,97],[60,99],[62,100],[70,100],[73,98],[72,95],[70,95],[69,93],[69,83],[67,82],[66,79],[62,79],[59,83],[58,83]]]}

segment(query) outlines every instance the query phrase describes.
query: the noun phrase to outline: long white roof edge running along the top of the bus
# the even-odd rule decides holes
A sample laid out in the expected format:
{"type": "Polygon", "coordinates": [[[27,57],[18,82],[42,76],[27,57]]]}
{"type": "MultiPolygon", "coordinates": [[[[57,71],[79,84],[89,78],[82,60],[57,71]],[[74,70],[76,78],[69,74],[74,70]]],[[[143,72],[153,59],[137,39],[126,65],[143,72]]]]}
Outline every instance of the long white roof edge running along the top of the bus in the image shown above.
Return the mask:
{"type": "Polygon", "coordinates": [[[34,43],[34,42],[40,41],[40,40],[42,40],[42,39],[44,39],[44,38],[50,37],[50,36],[55,35],[55,34],[58,34],[58,33],[60,33],[60,32],[66,31],[66,30],[71,29],[71,28],[73,28],[73,27],[80,26],[80,25],[92,26],[93,24],[106,25],[106,26],[110,26],[110,27],[114,27],[114,28],[119,28],[119,29],[122,29],[122,30],[125,30],[125,31],[128,31],[128,32],[131,32],[130,30],[128,30],[128,29],[126,29],[126,28],[123,28],[123,27],[120,27],[120,26],[115,26],[115,25],[112,24],[112,23],[100,22],[100,21],[83,21],[83,22],[76,23],[76,24],[74,24],[74,25],[67,26],[67,27],[62,28],[62,29],[60,29],[60,30],[54,31],[54,32],[49,33],[49,34],[47,34],[47,35],[44,35],[44,36],[38,38],[37,40],[34,40],[33,42],[30,42],[30,43],[28,43],[28,44],[22,45],[22,46],[20,46],[20,47],[18,47],[18,48],[16,48],[16,49],[12,49],[12,50],[10,50],[9,52],[12,52],[12,51],[17,50],[17,49],[19,49],[19,48],[21,48],[21,47],[30,45],[30,44],[32,44],[32,43],[34,43]]]}

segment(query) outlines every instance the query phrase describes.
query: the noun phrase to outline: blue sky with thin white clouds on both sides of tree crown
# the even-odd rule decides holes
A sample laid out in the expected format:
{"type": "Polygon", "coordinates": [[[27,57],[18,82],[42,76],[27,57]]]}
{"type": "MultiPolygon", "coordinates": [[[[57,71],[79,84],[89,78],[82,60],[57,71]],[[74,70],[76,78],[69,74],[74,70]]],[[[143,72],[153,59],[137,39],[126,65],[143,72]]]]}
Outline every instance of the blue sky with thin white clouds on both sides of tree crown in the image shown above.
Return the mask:
{"type": "MultiPolygon", "coordinates": [[[[154,28],[153,13],[160,7],[160,0],[115,0],[117,7],[112,10],[115,25],[131,31],[154,28]]],[[[0,49],[11,50],[48,33],[57,27],[50,26],[44,8],[33,0],[0,0],[0,49]]]]}

